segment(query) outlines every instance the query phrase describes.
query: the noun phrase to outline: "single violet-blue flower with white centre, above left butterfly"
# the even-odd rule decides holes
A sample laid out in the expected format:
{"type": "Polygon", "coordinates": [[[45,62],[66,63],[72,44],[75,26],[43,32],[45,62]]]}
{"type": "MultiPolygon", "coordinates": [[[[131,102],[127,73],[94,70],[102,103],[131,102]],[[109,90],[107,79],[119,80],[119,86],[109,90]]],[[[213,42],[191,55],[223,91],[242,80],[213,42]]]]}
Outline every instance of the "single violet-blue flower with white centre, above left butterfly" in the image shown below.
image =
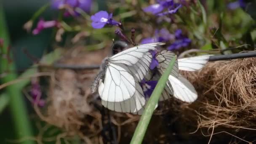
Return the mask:
{"type": "Polygon", "coordinates": [[[95,13],[93,16],[91,16],[91,20],[91,25],[95,29],[101,29],[106,24],[121,26],[120,22],[112,19],[112,13],[109,14],[107,11],[99,11],[98,13],[95,13]]]}

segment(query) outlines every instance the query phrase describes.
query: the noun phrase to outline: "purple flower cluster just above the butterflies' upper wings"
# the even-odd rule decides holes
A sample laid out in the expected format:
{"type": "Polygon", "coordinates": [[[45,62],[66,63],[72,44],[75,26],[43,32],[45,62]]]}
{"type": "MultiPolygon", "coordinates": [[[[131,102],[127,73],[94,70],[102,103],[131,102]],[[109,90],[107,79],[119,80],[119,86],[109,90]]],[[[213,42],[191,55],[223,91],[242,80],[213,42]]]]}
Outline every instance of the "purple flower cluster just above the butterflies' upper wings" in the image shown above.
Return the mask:
{"type": "Polygon", "coordinates": [[[170,32],[163,28],[155,31],[154,37],[149,37],[141,40],[141,44],[154,43],[154,42],[164,42],[174,41],[170,46],[168,46],[169,51],[178,50],[182,47],[187,47],[191,40],[184,35],[182,35],[181,29],[177,29],[175,34],[170,34],[170,32]]]}

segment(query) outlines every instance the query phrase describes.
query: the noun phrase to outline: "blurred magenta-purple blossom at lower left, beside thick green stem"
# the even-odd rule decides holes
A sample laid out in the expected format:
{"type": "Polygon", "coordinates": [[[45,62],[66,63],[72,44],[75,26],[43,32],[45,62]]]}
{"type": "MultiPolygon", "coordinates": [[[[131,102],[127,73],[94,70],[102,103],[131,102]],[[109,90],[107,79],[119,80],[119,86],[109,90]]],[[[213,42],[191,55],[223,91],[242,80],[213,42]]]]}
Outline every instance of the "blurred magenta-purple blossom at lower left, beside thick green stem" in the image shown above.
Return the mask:
{"type": "Polygon", "coordinates": [[[43,99],[41,99],[42,91],[41,91],[38,81],[36,79],[32,79],[31,86],[32,87],[30,90],[30,95],[32,96],[33,104],[43,107],[45,105],[45,101],[43,99]]]}

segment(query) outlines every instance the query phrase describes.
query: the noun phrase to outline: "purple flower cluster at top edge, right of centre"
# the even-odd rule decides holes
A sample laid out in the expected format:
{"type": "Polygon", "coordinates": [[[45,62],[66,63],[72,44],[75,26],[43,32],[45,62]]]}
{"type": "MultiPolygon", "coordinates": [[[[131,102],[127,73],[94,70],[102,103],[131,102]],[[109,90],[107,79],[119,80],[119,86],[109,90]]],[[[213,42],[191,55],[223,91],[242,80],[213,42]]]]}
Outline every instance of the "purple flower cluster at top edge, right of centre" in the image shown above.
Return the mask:
{"type": "Polygon", "coordinates": [[[175,0],[157,0],[158,3],[149,5],[143,8],[143,11],[153,13],[157,16],[176,13],[181,8],[181,3],[176,3],[175,0]],[[167,9],[167,11],[164,11],[167,9]]]}

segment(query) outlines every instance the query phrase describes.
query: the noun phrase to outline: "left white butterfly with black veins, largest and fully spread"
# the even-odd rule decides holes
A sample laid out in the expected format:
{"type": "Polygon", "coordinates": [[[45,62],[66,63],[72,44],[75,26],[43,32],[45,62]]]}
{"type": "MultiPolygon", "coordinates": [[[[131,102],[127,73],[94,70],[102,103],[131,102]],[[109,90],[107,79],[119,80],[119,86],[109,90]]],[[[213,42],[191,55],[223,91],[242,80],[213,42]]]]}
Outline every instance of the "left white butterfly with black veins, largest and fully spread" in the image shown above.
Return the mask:
{"type": "Polygon", "coordinates": [[[149,71],[152,60],[150,50],[157,45],[150,43],[135,46],[117,53],[105,61],[104,75],[99,80],[99,96],[104,107],[116,112],[138,112],[146,99],[139,82],[149,71]]]}

